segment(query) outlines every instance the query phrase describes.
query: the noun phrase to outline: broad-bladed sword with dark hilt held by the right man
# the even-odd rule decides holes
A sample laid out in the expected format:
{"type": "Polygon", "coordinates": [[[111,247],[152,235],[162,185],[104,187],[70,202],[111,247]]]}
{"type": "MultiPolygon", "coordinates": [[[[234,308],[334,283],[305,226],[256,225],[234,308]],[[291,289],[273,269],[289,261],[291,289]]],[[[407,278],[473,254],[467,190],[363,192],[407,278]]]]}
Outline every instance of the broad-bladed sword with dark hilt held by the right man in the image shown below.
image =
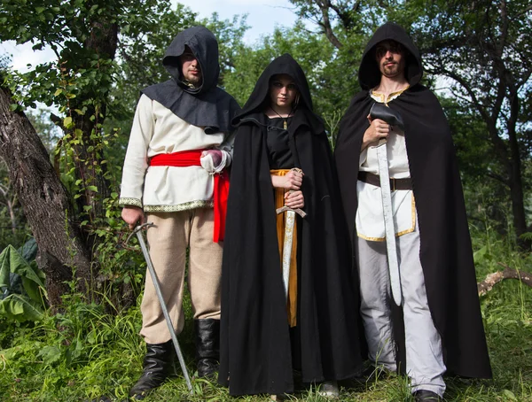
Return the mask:
{"type": "MultiPolygon", "coordinates": [[[[401,115],[382,104],[375,103],[370,110],[372,119],[386,121],[390,126],[396,126],[404,131],[401,115]]],[[[377,145],[377,160],[379,162],[380,193],[382,197],[382,210],[384,213],[384,231],[386,235],[386,251],[388,271],[390,274],[390,287],[395,305],[401,305],[403,294],[401,291],[401,274],[395,243],[394,212],[392,208],[392,192],[387,161],[387,141],[382,138],[377,145]]]]}

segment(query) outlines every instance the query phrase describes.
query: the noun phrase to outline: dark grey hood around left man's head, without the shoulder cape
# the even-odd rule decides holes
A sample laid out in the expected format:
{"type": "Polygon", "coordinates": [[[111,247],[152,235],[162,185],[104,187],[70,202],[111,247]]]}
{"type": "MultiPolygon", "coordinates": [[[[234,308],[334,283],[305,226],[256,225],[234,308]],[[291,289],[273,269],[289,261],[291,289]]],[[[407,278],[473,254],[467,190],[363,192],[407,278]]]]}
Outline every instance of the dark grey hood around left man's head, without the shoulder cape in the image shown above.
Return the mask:
{"type": "Polygon", "coordinates": [[[168,46],[162,65],[174,77],[180,87],[191,94],[201,94],[216,87],[220,65],[218,64],[218,43],[215,35],[206,27],[191,27],[178,34],[168,46]],[[190,88],[183,82],[183,73],[179,57],[188,46],[198,59],[201,67],[201,85],[190,88]]]}

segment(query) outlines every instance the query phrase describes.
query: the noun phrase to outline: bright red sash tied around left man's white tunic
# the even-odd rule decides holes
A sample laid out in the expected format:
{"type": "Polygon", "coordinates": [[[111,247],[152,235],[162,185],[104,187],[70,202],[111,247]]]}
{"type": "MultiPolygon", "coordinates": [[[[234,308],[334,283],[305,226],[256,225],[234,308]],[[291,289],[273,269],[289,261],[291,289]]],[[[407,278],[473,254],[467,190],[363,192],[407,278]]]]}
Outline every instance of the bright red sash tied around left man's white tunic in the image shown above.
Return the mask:
{"type": "MultiPolygon", "coordinates": [[[[149,160],[150,166],[201,166],[201,152],[207,150],[180,151],[173,153],[160,153],[149,160]]],[[[223,169],[220,174],[215,174],[215,243],[223,241],[225,234],[225,216],[227,214],[227,197],[229,195],[229,175],[223,169]]]]}

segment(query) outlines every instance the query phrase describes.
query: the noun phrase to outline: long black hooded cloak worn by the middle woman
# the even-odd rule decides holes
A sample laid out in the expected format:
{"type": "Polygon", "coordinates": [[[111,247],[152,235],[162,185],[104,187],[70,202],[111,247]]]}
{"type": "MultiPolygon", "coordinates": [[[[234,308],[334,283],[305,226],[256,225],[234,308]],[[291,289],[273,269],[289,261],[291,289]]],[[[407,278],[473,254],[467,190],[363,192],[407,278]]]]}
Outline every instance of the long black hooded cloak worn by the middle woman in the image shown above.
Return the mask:
{"type": "Polygon", "coordinates": [[[312,112],[307,80],[290,55],[271,62],[233,123],[238,129],[223,244],[219,382],[229,385],[231,395],[292,392],[293,361],[299,359],[303,382],[355,375],[362,363],[357,275],[350,267],[324,125],[312,112]],[[266,146],[268,119],[262,112],[270,78],[278,73],[289,74],[301,93],[288,133],[305,174],[301,190],[308,213],[298,226],[298,324],[292,343],[266,146]]]}

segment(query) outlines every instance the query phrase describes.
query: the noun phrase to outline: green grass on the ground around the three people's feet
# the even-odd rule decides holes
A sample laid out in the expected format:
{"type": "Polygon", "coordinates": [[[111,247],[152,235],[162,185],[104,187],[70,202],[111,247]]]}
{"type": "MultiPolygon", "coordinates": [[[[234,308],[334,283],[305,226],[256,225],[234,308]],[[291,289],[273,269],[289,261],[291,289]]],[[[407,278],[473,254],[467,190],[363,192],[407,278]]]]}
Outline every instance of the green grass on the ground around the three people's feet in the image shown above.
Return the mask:
{"type": "MultiPolygon", "coordinates": [[[[476,237],[475,250],[482,247],[486,251],[476,255],[479,280],[501,269],[497,261],[532,270],[532,258],[510,251],[504,241],[476,237]]],[[[65,313],[47,316],[36,324],[0,320],[0,400],[91,401],[101,396],[127,400],[129,388],[141,374],[145,352],[138,336],[138,307],[113,316],[105,313],[103,305],[86,305],[75,297],[66,299],[65,305],[65,313]]],[[[187,322],[179,340],[192,373],[192,313],[190,304],[185,305],[189,307],[187,322]]],[[[494,378],[447,378],[446,400],[532,402],[532,289],[513,280],[501,282],[481,298],[481,308],[494,378]]],[[[183,377],[176,375],[145,401],[270,400],[265,395],[231,398],[226,389],[203,380],[193,381],[193,387],[195,394],[190,396],[183,377]]],[[[290,400],[326,399],[315,387],[302,387],[290,400]]],[[[341,400],[407,402],[411,396],[405,377],[384,375],[368,382],[342,383],[341,400]]]]}

